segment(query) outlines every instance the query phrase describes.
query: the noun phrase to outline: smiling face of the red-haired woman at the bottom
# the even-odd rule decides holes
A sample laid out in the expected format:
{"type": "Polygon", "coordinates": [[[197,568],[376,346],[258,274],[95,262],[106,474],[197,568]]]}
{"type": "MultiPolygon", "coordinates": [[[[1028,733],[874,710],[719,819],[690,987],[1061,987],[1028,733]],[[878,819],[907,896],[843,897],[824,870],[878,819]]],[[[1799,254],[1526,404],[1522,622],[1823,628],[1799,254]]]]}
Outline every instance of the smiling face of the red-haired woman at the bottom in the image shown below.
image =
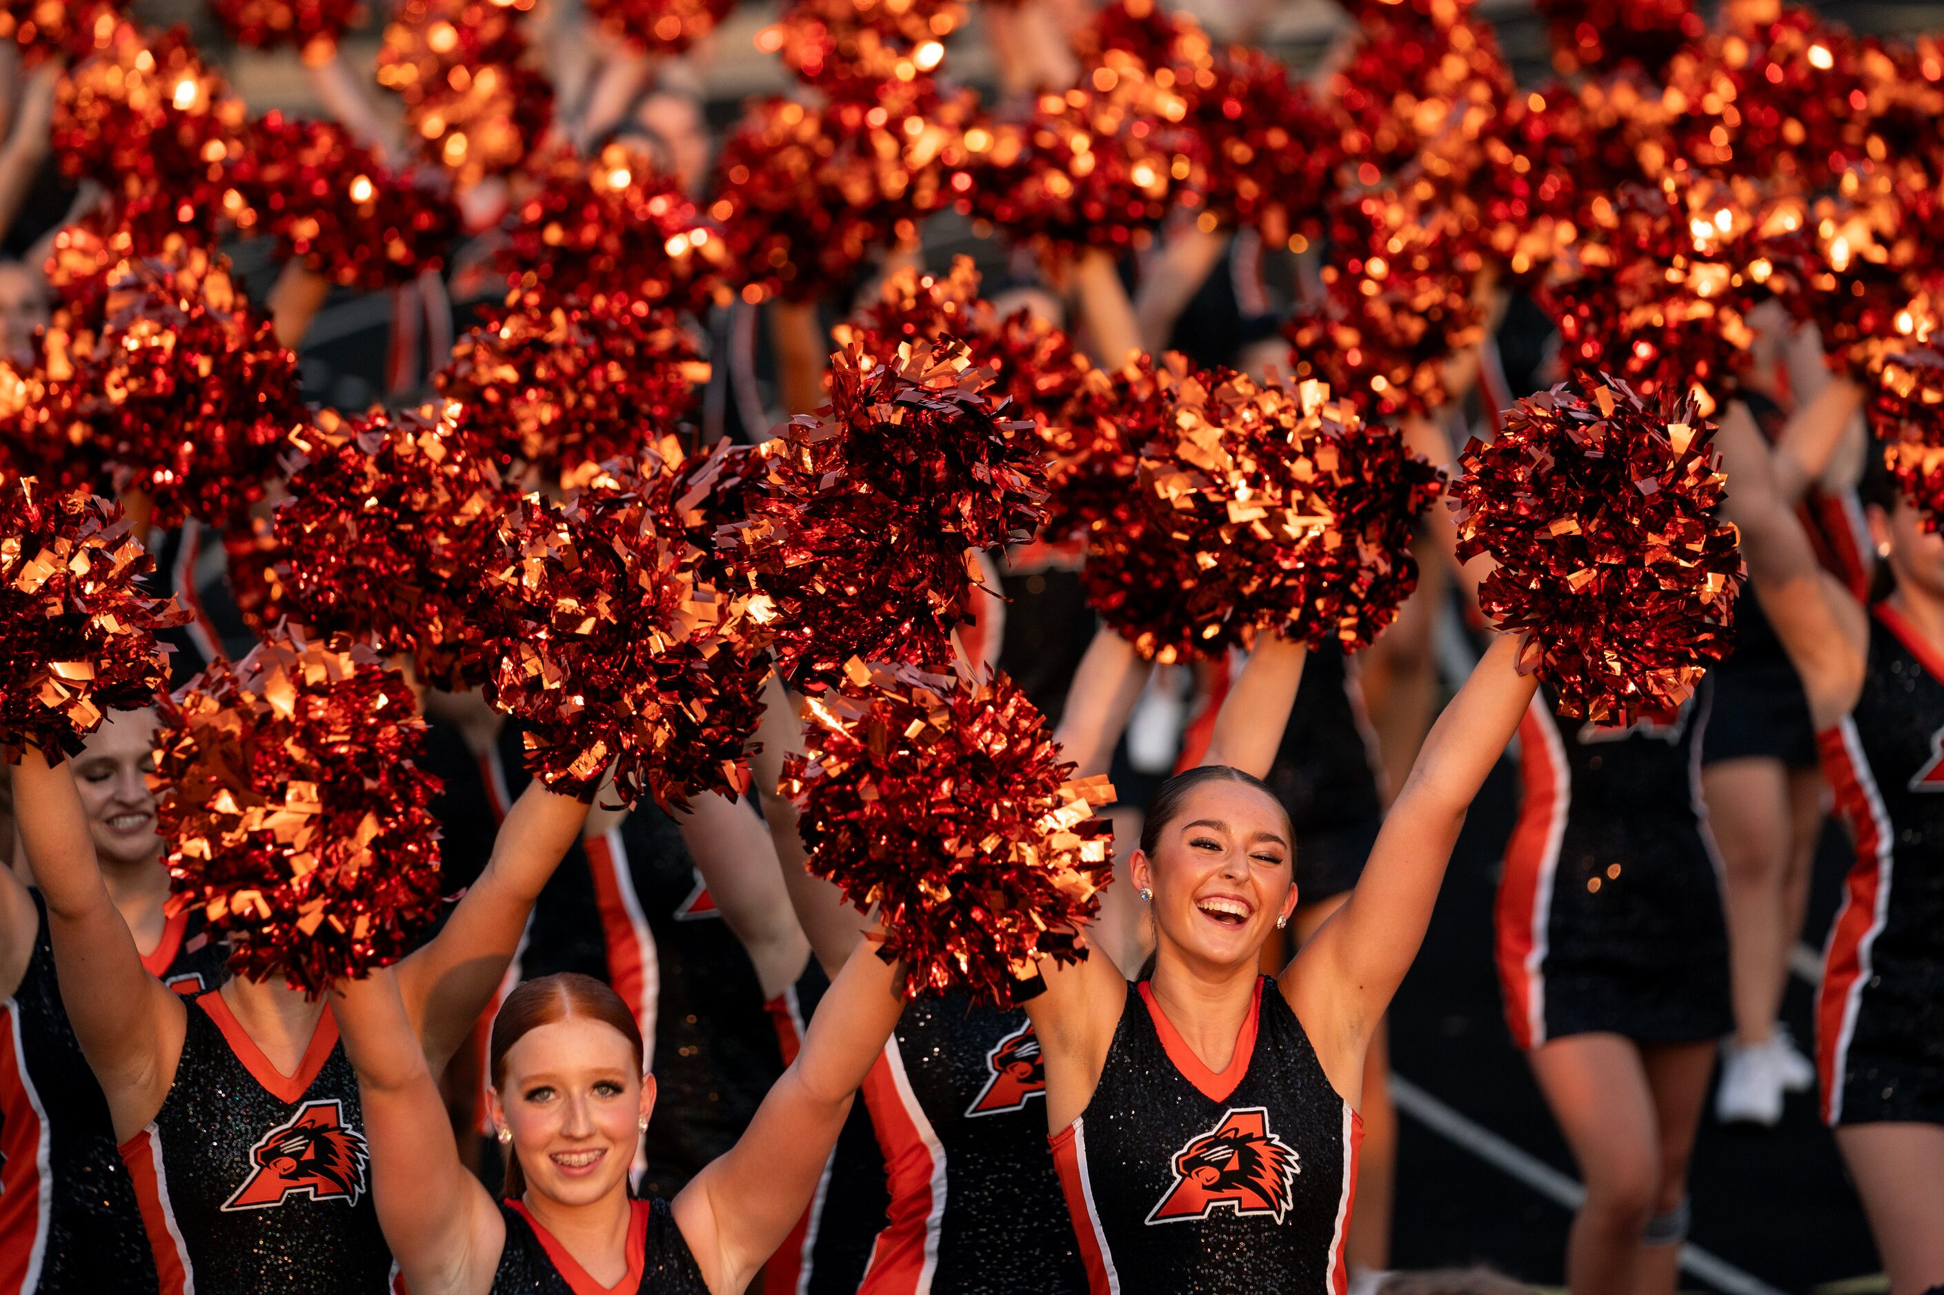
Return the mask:
{"type": "Polygon", "coordinates": [[[591,1206],[626,1192],[638,1122],[655,1108],[655,1079],[640,1073],[634,1044],[612,1025],[570,1015],[521,1034],[503,1068],[492,1116],[513,1134],[529,1208],[535,1196],[591,1206]]]}

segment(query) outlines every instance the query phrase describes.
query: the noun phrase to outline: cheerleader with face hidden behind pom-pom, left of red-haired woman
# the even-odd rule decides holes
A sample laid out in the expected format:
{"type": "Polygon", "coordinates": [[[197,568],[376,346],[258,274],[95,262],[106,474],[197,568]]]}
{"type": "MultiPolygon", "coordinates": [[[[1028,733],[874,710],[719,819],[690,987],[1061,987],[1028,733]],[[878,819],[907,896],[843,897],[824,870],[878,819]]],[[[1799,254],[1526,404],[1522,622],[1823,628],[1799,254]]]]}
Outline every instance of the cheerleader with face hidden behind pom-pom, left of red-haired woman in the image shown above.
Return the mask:
{"type": "MultiPolygon", "coordinates": [[[[47,898],[60,998],[107,1099],[163,1293],[385,1291],[358,1085],[321,999],[231,978],[194,996],[144,964],[68,762],[27,751],[17,826],[47,898]]],[[[585,805],[533,788],[480,881],[395,976],[428,1066],[490,999],[585,805]]],[[[119,1287],[121,1283],[117,1283],[119,1287]]]]}

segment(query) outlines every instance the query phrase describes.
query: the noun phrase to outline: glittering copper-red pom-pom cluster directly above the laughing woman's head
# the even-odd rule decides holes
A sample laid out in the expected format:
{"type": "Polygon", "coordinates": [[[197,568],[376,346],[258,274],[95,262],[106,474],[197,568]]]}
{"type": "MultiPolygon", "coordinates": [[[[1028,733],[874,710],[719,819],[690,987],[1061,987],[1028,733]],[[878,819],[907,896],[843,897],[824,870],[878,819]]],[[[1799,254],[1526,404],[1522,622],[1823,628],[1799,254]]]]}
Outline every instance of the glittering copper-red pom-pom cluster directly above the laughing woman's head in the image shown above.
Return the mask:
{"type": "Polygon", "coordinates": [[[1182,373],[1141,447],[1133,525],[1094,537],[1089,591],[1161,661],[1262,630],[1357,651],[1417,587],[1411,537],[1439,488],[1324,383],[1182,373]]]}

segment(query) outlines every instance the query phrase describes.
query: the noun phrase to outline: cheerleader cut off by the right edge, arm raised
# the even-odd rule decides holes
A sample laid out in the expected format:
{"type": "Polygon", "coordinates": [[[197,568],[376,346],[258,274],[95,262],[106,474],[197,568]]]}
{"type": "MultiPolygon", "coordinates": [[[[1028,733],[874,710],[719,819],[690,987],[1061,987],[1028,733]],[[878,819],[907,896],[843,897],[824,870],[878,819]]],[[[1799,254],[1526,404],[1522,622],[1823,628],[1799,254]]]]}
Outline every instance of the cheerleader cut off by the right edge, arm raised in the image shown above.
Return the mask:
{"type": "Polygon", "coordinates": [[[1816,562],[1752,418],[1720,430],[1755,597],[1802,675],[1857,861],[1823,951],[1816,1066],[1892,1295],[1944,1283],[1944,537],[1888,474],[1870,533],[1895,587],[1864,607],[1816,562]]]}

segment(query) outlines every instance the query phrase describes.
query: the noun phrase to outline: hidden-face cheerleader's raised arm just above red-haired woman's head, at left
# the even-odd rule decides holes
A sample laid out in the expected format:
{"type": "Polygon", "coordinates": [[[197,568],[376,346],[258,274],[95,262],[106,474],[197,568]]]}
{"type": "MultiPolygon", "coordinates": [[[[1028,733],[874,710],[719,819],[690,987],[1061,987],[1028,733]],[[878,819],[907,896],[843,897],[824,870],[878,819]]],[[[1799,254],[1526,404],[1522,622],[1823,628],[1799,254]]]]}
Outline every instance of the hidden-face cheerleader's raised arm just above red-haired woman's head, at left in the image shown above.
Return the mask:
{"type": "Polygon", "coordinates": [[[439,933],[399,962],[399,996],[435,1071],[492,1001],[540,887],[579,836],[585,817],[585,803],[556,795],[538,780],[529,784],[500,824],[486,871],[439,933]]]}

